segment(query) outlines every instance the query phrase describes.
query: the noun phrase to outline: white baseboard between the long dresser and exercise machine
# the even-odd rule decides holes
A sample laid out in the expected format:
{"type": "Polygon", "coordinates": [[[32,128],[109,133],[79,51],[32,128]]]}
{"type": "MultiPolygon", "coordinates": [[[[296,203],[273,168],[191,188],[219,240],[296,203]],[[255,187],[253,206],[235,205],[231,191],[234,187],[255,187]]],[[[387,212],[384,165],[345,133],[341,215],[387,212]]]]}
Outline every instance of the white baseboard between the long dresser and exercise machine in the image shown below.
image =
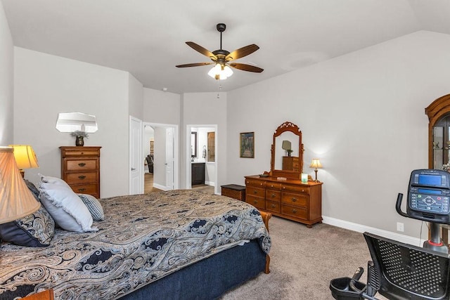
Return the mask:
{"type": "Polygon", "coordinates": [[[387,230],[364,226],[364,225],[352,223],[349,221],[343,221],[340,219],[331,218],[329,216],[322,216],[322,218],[323,218],[323,223],[326,223],[328,225],[333,225],[336,227],[340,227],[340,228],[345,228],[348,230],[353,230],[358,233],[364,233],[364,232],[373,233],[374,235],[380,235],[382,237],[387,237],[391,240],[397,240],[399,242],[404,242],[406,244],[413,244],[413,245],[420,246],[420,247],[423,244],[423,240],[418,239],[417,237],[410,237],[409,235],[400,235],[399,233],[392,233],[387,230]]]}

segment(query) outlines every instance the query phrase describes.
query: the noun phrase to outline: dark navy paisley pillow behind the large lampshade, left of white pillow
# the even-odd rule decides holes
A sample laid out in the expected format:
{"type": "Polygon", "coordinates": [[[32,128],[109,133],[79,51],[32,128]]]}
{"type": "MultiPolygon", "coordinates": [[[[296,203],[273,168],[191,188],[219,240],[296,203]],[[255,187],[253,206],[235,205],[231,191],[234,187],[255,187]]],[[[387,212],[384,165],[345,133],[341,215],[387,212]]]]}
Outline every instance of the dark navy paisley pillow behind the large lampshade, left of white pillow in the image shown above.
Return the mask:
{"type": "MultiPolygon", "coordinates": [[[[38,200],[39,190],[30,181],[25,182],[38,200]]],[[[1,239],[25,247],[49,246],[54,233],[55,221],[42,205],[33,214],[0,225],[1,239]]]]}

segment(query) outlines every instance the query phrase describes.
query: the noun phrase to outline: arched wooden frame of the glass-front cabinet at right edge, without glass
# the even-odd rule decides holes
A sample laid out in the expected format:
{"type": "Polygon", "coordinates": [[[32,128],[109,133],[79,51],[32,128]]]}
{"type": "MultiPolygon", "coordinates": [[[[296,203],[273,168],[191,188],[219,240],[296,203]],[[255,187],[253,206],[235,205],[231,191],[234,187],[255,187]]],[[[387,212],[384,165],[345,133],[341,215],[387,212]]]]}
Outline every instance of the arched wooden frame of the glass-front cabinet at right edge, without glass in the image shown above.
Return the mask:
{"type": "MultiPolygon", "coordinates": [[[[436,169],[434,164],[435,148],[433,146],[434,141],[434,127],[445,117],[450,115],[450,94],[434,100],[427,108],[425,108],[425,114],[428,115],[428,168],[436,169]]],[[[449,145],[447,145],[447,148],[449,145]]],[[[446,145],[440,145],[439,147],[445,148],[446,145]]],[[[447,149],[449,152],[450,150],[447,149]]],[[[439,168],[440,169],[440,168],[439,168]]]]}

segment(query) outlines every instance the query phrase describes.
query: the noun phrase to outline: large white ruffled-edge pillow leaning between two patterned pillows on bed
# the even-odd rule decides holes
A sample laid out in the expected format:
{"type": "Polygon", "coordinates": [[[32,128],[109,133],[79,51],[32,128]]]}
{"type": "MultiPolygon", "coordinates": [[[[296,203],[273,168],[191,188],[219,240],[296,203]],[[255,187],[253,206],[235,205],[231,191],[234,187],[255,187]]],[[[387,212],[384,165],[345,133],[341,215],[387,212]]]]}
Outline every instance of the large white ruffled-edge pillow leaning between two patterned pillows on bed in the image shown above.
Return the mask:
{"type": "Polygon", "coordinates": [[[55,222],[68,231],[97,231],[86,205],[70,187],[53,183],[39,183],[41,203],[55,222]]]}

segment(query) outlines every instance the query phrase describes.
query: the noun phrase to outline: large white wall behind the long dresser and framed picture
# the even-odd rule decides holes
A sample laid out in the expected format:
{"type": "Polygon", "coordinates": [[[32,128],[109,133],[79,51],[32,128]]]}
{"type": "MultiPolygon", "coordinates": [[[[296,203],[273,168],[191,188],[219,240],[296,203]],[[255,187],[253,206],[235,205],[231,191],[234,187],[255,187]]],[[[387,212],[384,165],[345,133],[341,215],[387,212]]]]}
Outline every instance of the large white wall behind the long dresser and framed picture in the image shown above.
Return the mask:
{"type": "Polygon", "coordinates": [[[420,221],[394,206],[411,171],[428,168],[425,107],[450,93],[449,78],[450,36],[416,32],[231,91],[227,181],[269,170],[272,135],[291,121],[303,133],[304,171],[314,174],[313,157],[323,164],[323,216],[391,232],[402,222],[418,237],[420,221]],[[245,131],[255,131],[255,159],[239,158],[245,131]]]}

